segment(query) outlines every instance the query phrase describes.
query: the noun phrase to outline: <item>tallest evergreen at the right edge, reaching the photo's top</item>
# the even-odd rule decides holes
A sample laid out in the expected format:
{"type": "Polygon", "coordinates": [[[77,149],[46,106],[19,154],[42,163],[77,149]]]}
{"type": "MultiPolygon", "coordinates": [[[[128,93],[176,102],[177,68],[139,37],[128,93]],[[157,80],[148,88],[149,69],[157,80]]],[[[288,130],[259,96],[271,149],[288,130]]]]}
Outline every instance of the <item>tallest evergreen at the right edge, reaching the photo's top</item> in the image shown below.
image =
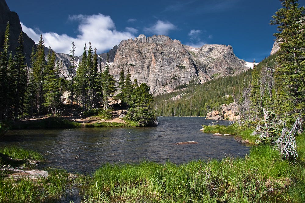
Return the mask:
{"type": "Polygon", "coordinates": [[[298,0],[280,1],[282,8],[271,20],[272,25],[278,25],[279,33],[274,36],[280,43],[275,85],[282,105],[277,113],[293,124],[299,114],[305,115],[305,8],[298,7],[298,0]]]}

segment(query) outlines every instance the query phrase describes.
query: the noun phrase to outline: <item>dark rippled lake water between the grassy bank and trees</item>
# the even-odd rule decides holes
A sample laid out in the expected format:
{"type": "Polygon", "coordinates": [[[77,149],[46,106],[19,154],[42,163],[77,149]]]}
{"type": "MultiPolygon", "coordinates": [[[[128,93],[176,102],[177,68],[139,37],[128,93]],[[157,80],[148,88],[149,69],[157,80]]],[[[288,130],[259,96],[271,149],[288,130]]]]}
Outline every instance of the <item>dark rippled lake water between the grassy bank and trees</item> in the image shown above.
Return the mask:
{"type": "MultiPolygon", "coordinates": [[[[249,153],[250,146],[236,142],[234,137],[199,131],[202,124],[212,124],[214,120],[206,120],[205,117],[158,117],[158,121],[158,126],[152,128],[9,131],[0,146],[16,145],[41,153],[48,161],[40,168],[61,167],[69,172],[86,174],[105,163],[149,160],[180,164],[249,153]],[[174,145],[186,141],[198,144],[174,145]]],[[[218,124],[229,123],[219,121],[218,124]]]]}

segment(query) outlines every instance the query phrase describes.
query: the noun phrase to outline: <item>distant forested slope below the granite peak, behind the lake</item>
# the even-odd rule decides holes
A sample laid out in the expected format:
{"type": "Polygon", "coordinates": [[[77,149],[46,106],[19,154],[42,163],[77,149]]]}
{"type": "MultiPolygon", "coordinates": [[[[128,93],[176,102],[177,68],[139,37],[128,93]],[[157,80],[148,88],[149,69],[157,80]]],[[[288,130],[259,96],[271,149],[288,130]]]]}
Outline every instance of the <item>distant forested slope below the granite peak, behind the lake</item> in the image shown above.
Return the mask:
{"type": "Polygon", "coordinates": [[[250,81],[252,70],[239,75],[212,79],[203,84],[189,83],[180,89],[155,97],[158,116],[206,116],[223,103],[239,101],[240,93],[250,81]],[[227,98],[227,95],[231,95],[227,98]]]}

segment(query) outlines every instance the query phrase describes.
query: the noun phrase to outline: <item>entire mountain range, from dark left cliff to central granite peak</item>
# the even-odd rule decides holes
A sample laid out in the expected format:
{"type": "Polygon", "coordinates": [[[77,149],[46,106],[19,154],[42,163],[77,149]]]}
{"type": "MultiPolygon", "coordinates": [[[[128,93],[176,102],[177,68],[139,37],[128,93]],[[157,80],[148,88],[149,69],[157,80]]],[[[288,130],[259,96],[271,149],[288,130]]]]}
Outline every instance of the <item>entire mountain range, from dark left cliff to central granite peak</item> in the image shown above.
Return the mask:
{"type": "MultiPolygon", "coordinates": [[[[10,22],[10,51],[18,46],[21,30],[20,20],[15,12],[11,12],[5,2],[0,0],[0,45],[4,42],[6,23],[10,22]]],[[[31,49],[34,41],[23,33],[27,64],[30,65],[31,49]]],[[[94,47],[94,44],[93,44],[94,47]]],[[[49,49],[45,48],[45,54],[49,49]]],[[[205,44],[194,48],[172,40],[168,36],[154,35],[146,37],[139,35],[134,40],[123,40],[109,52],[110,73],[118,80],[123,66],[125,74],[130,69],[131,79],[137,79],[138,84],[147,83],[151,93],[159,95],[172,92],[180,85],[190,81],[202,83],[213,78],[236,75],[248,70],[246,62],[237,58],[233,48],[228,45],[205,44]]],[[[99,64],[104,68],[107,53],[99,54],[99,64]],[[101,62],[101,63],[100,63],[101,62]]],[[[75,57],[74,65],[78,66],[82,57],[75,57]]],[[[63,77],[69,79],[69,54],[56,53],[56,61],[62,63],[63,77]]],[[[74,72],[75,74],[75,72],[74,72]]]]}

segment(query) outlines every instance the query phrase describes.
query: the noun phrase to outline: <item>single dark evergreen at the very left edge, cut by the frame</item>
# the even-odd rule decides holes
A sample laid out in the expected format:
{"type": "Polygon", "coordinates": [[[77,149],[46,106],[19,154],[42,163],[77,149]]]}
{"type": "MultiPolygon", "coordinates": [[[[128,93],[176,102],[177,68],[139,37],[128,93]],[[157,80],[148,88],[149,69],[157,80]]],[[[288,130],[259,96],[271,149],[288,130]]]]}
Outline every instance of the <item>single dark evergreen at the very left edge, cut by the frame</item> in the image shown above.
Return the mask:
{"type": "Polygon", "coordinates": [[[9,59],[9,29],[10,24],[7,22],[5,34],[4,34],[4,44],[2,51],[0,50],[0,121],[5,120],[8,117],[9,108],[9,89],[7,89],[7,79],[8,79],[8,59],[9,59]]]}

